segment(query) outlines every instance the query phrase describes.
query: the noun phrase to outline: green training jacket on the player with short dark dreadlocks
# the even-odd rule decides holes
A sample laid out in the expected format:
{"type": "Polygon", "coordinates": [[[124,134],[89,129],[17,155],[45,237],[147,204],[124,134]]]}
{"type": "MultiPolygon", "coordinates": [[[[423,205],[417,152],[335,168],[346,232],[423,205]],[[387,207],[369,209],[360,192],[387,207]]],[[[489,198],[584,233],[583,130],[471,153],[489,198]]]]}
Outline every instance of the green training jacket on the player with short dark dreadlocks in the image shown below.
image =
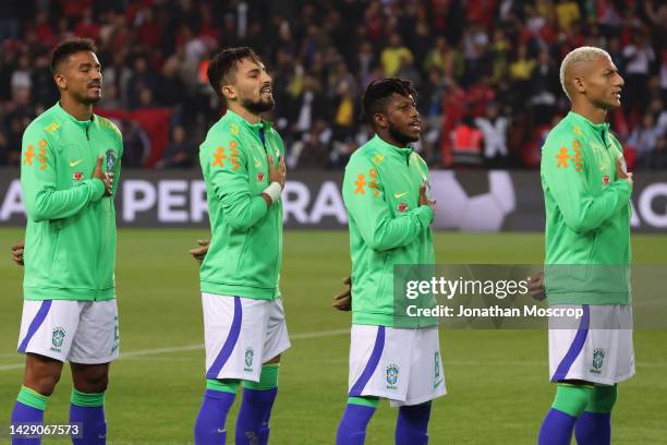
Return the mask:
{"type": "Polygon", "coordinates": [[[350,219],[352,323],[437,324],[434,318],[410,318],[398,311],[393,294],[396,265],[435,263],[434,214],[429,206],[417,204],[420,187],[427,180],[426,163],[412,148],[392,146],[377,135],[350,158],[342,195],[350,219]]]}

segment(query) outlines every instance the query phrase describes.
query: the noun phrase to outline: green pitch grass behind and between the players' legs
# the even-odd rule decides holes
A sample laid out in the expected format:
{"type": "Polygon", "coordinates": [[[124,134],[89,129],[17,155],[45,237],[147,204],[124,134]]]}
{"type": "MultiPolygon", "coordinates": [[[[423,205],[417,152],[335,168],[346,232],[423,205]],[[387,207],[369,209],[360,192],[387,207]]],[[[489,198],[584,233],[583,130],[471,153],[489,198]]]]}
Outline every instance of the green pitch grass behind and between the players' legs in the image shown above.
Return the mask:
{"type": "MultiPolygon", "coordinates": [[[[22,270],[10,245],[22,230],[0,230],[0,442],[23,375],[15,352],[22,270]]],[[[121,359],[107,393],[110,444],[192,443],[204,388],[197,267],[187,249],[203,230],[120,230],[118,293],[121,359]],[[157,350],[157,351],[156,351],[157,350]]],[[[541,234],[436,233],[440,263],[539,263],[541,234]]],[[[633,237],[639,263],[665,263],[667,237],[633,237]]],[[[284,353],[271,418],[271,443],[332,444],[348,384],[349,314],[330,309],[349,272],[345,232],[290,231],[282,291],[292,348],[284,353]]],[[[666,266],[667,270],[667,266],[666,266]]],[[[665,444],[667,332],[636,332],[636,376],[621,385],[614,443],[665,444]]],[[[445,330],[441,350],[449,395],[434,402],[432,444],[534,444],[554,386],[544,330],[445,330]]],[[[46,422],[66,423],[71,377],[63,371],[46,422]]],[[[227,422],[230,443],[240,398],[227,422]]],[[[397,410],[383,402],[367,444],[391,444],[397,410]]],[[[48,440],[44,443],[65,443],[48,440]]]]}

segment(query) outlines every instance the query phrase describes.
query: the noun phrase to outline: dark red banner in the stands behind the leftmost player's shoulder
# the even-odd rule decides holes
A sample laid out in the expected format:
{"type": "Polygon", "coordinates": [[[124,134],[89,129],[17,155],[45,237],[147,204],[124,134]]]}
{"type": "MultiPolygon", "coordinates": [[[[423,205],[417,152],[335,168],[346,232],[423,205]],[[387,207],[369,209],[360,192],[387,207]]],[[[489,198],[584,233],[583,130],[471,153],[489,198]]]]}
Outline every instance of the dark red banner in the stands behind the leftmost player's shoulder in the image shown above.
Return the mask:
{"type": "MultiPolygon", "coordinates": [[[[171,120],[171,108],[146,108],[142,110],[95,110],[96,115],[109,118],[118,124],[120,121],[131,120],[138,123],[150,140],[150,152],[145,167],[153,168],[162,157],[162,152],[169,144],[169,122],[171,120]]],[[[122,130],[122,129],[121,129],[122,130]]]]}

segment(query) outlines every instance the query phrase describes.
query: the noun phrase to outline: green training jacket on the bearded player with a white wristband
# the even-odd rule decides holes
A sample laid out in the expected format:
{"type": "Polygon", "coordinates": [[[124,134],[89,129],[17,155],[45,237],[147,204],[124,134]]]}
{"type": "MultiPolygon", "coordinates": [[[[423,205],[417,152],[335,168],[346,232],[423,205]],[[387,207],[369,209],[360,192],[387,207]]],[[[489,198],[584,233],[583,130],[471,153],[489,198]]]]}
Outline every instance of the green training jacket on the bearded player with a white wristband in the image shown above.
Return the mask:
{"type": "Polygon", "coordinates": [[[260,196],[269,184],[269,154],[276,165],[284,155],[271,123],[251,124],[231,110],[199,146],[211,230],[199,269],[202,292],[256,300],[280,296],[282,201],[267,208],[260,196]]]}

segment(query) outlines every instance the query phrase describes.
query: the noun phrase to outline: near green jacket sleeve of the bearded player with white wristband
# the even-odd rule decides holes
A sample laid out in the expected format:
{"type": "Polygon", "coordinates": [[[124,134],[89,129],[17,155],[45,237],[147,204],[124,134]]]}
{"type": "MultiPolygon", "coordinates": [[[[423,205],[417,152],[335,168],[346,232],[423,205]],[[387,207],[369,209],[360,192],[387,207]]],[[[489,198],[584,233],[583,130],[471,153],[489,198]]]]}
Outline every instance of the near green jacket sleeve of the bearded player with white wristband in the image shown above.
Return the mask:
{"type": "Polygon", "coordinates": [[[238,137],[230,136],[208,152],[209,178],[231,227],[246,230],[267,214],[266,201],[250,189],[247,160],[238,137]]]}

